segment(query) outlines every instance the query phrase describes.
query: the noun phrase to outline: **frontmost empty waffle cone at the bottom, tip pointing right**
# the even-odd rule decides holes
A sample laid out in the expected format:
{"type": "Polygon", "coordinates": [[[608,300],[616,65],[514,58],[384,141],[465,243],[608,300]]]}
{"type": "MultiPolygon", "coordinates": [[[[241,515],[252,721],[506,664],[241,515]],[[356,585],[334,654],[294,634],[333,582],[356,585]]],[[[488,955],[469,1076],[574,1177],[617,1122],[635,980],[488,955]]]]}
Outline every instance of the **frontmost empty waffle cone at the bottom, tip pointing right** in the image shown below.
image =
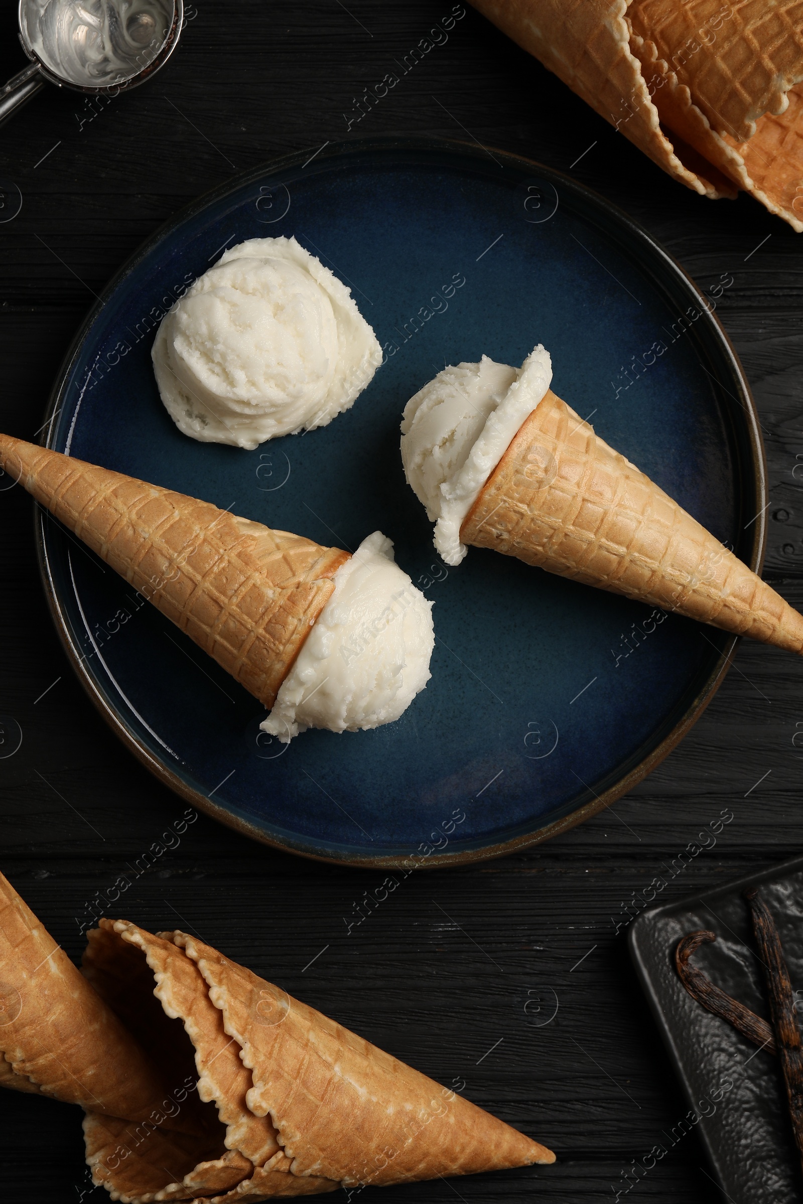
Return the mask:
{"type": "MultiPolygon", "coordinates": [[[[555,1161],[551,1151],[185,933],[291,1174],[384,1186],[555,1161]]],[[[236,1198],[236,1197],[232,1197],[236,1198]]]]}

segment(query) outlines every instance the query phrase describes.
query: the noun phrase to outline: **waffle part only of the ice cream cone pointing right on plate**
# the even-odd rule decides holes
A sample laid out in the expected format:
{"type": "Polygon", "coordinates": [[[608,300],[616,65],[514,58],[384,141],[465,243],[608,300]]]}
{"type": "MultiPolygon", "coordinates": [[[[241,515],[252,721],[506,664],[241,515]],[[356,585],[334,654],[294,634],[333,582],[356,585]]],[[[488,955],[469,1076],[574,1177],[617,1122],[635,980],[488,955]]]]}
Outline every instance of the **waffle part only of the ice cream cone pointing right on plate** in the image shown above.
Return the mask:
{"type": "Polygon", "coordinates": [[[489,477],[460,538],[803,651],[803,615],[551,390],[489,477]]]}

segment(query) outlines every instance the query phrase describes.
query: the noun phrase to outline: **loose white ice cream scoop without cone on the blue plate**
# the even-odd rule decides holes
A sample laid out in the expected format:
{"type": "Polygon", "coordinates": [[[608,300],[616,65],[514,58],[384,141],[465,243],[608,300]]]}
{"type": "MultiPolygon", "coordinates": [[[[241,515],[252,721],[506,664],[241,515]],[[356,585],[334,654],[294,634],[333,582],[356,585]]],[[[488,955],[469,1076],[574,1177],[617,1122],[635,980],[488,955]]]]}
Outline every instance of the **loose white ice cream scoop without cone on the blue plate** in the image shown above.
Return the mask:
{"type": "Polygon", "coordinates": [[[152,356],[184,435],[253,450],[348,409],[382,349],[350,289],[282,237],[226,250],[165,315],[152,356]]]}

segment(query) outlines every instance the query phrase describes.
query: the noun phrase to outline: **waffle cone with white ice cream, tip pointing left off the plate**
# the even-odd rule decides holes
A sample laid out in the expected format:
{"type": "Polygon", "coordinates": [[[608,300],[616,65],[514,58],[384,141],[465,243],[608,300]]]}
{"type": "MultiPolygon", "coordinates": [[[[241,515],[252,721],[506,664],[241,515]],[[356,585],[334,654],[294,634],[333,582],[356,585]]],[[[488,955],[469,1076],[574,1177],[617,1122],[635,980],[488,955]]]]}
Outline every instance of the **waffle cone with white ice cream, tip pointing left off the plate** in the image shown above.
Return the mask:
{"type": "Polygon", "coordinates": [[[279,739],[391,722],[426,684],[431,603],[379,532],[350,555],[5,435],[0,466],[274,708],[279,739]]]}

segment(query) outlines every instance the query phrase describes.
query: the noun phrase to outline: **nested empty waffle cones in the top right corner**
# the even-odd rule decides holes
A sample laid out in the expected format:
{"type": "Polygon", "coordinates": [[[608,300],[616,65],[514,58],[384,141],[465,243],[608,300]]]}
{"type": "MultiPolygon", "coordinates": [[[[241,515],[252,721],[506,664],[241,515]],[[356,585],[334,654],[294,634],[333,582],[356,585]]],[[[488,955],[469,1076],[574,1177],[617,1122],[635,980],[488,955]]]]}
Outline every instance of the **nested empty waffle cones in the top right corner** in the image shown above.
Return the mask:
{"type": "Polygon", "coordinates": [[[803,230],[801,0],[472,0],[654,163],[803,230]]]}

